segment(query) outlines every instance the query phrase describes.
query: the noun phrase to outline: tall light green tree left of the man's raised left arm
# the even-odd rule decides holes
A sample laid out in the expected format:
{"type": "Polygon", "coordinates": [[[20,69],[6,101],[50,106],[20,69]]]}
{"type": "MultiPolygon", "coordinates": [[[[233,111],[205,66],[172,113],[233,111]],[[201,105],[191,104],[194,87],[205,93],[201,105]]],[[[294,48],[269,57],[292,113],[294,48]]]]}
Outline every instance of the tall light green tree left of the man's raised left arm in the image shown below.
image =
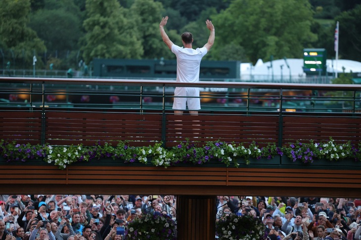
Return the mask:
{"type": "Polygon", "coordinates": [[[93,58],[134,58],[143,54],[135,20],[117,0],[87,0],[84,21],[84,60],[93,58]]]}

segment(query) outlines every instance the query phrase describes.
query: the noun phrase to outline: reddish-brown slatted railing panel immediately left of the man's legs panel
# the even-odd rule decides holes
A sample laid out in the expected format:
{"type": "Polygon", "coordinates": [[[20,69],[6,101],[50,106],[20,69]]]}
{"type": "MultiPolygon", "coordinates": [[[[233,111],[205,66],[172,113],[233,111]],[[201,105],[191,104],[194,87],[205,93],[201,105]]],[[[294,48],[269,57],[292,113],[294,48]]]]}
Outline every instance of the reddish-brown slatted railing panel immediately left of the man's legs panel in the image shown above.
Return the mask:
{"type": "Polygon", "coordinates": [[[64,145],[93,145],[95,141],[117,143],[133,140],[161,141],[162,116],[159,114],[46,113],[46,142],[64,145]]]}

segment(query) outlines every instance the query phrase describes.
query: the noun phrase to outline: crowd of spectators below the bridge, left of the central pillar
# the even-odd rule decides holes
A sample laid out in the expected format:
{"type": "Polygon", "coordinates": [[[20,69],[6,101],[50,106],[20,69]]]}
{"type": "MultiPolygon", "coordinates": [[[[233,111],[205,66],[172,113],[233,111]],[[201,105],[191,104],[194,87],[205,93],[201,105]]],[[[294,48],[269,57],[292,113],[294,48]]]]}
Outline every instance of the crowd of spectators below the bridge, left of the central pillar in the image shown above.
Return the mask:
{"type": "Polygon", "coordinates": [[[0,195],[0,240],[123,240],[142,212],[175,212],[172,195],[0,195]]]}

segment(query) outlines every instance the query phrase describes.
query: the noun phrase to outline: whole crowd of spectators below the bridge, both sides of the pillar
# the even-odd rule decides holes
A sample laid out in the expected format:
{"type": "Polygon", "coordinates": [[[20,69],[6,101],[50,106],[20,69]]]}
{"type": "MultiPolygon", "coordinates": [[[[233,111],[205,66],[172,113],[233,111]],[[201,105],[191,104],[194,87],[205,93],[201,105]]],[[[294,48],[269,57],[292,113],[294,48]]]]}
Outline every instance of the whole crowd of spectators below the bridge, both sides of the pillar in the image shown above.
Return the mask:
{"type": "MultiPolygon", "coordinates": [[[[361,240],[357,199],[217,196],[215,207],[217,220],[262,219],[268,240],[361,240]]],[[[0,240],[124,240],[142,212],[176,208],[173,195],[0,195],[0,240]]]]}

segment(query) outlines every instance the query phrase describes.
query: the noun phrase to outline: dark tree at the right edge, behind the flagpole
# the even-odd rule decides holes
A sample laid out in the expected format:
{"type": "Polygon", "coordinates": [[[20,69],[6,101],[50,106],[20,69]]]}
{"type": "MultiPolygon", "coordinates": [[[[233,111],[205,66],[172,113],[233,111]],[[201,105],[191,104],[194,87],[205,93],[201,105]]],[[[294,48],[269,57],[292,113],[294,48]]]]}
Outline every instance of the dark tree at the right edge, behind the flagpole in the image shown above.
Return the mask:
{"type": "Polygon", "coordinates": [[[361,4],[341,13],[335,20],[339,21],[340,57],[361,61],[361,4]]]}

